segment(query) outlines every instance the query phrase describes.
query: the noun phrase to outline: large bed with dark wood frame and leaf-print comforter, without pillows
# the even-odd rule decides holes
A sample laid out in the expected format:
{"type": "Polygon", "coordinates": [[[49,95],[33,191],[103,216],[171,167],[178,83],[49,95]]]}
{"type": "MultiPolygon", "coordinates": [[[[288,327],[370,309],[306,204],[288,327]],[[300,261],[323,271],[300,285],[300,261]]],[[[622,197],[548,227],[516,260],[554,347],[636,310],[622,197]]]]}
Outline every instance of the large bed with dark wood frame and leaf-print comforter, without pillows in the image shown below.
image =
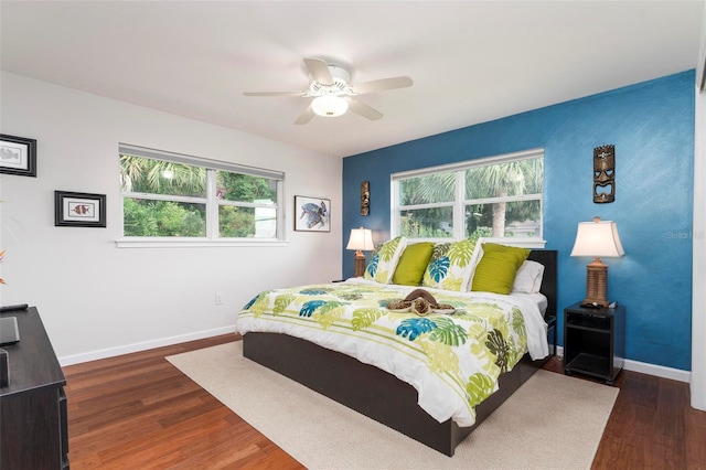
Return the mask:
{"type": "MultiPolygon", "coordinates": [[[[546,348],[545,351],[548,351],[546,323],[554,325],[554,322],[550,320],[556,318],[556,252],[532,250],[528,252],[526,260],[538,263],[544,267],[544,273],[539,280],[541,287],[538,287],[539,296],[528,295],[525,296],[527,298],[525,300],[532,303],[533,298],[535,300],[543,299],[537,302],[543,310],[539,314],[543,314],[542,320],[544,320],[541,321],[544,329],[539,331],[543,335],[544,346],[546,348]]],[[[467,261],[470,263],[470,259],[467,261]]],[[[478,260],[475,261],[478,263],[478,260]]],[[[427,268],[425,276],[428,276],[428,271],[429,269],[427,268]]],[[[522,344],[523,340],[516,334],[517,332],[505,331],[507,328],[512,330],[512,327],[498,327],[495,324],[495,329],[500,328],[507,334],[506,343],[516,345],[520,352],[515,352],[513,355],[512,352],[507,352],[507,349],[505,349],[503,351],[507,353],[509,359],[500,365],[498,365],[500,354],[498,357],[490,357],[490,360],[495,360],[493,365],[489,366],[488,363],[483,363],[485,370],[492,368],[494,373],[498,373],[496,383],[493,383],[492,387],[490,387],[492,389],[489,388],[488,384],[484,385],[488,396],[469,398],[469,393],[473,395],[473,389],[467,388],[467,392],[470,392],[461,397],[463,392],[459,392],[458,386],[454,392],[452,391],[450,394],[443,395],[441,394],[439,383],[453,382],[449,380],[449,377],[452,377],[454,374],[441,372],[440,370],[428,372],[427,368],[420,368],[418,365],[417,368],[414,368],[415,364],[413,360],[409,360],[413,362],[413,372],[405,373],[399,371],[399,368],[402,368],[400,364],[408,360],[407,356],[415,354],[415,352],[409,349],[411,348],[410,344],[413,344],[410,342],[411,337],[414,334],[426,334],[427,337],[432,334],[428,330],[416,330],[416,325],[428,324],[428,322],[425,323],[425,320],[438,324],[446,324],[443,322],[448,323],[449,320],[452,320],[453,322],[463,324],[461,322],[464,321],[467,317],[475,316],[473,312],[477,311],[477,306],[489,303],[489,298],[492,302],[496,302],[493,305],[498,307],[500,305],[504,306],[505,297],[510,299],[514,297],[514,295],[503,297],[500,295],[486,295],[484,292],[450,292],[445,289],[426,287],[426,292],[435,296],[435,299],[439,299],[437,307],[446,306],[446,308],[448,308],[450,306],[453,307],[453,311],[450,314],[445,310],[434,310],[425,312],[424,314],[415,311],[400,313],[389,311],[389,309],[386,309],[386,305],[394,299],[400,300],[406,292],[410,292],[414,289],[411,287],[379,284],[375,282],[374,278],[370,276],[368,278],[367,281],[365,281],[365,279],[349,279],[345,282],[303,286],[260,292],[245,306],[238,318],[236,330],[243,334],[243,354],[245,357],[301,383],[432,449],[447,456],[453,456],[456,447],[530,378],[537,368],[542,367],[548,355],[543,355],[541,351],[534,354],[524,352],[531,348],[528,343],[532,341],[536,342],[536,338],[535,340],[528,339],[532,334],[536,337],[536,332],[530,332],[530,323],[532,321],[526,325],[520,327],[520,330],[526,327],[527,339],[525,344],[522,344]],[[303,291],[307,296],[307,301],[298,305],[292,300],[292,289],[295,289],[297,293],[303,291]],[[362,295],[360,295],[361,292],[362,295]],[[357,334],[359,331],[353,331],[356,330],[356,328],[346,329],[342,327],[343,323],[345,323],[342,321],[346,314],[345,309],[350,310],[354,308],[350,307],[350,305],[356,305],[356,301],[362,301],[361,299],[356,299],[356,297],[362,297],[368,301],[367,307],[365,307],[365,305],[355,307],[359,313],[370,313],[370,311],[375,310],[368,308],[370,302],[374,301],[377,303],[377,312],[373,314],[372,319],[368,318],[363,327],[357,325],[359,331],[371,329],[367,334],[370,338],[374,337],[374,340],[368,342],[373,343],[372,348],[374,351],[366,352],[367,346],[363,348],[357,345],[355,341],[359,340],[356,339],[352,339],[351,341],[353,342],[349,344],[347,337],[352,337],[354,333],[357,334]],[[368,299],[368,297],[373,298],[373,300],[368,299]],[[338,303],[331,302],[332,298],[338,299],[338,303]],[[342,307],[342,305],[345,306],[342,307]],[[292,306],[296,307],[292,308],[292,306]],[[317,309],[327,308],[327,312],[333,312],[333,314],[324,322],[323,318],[325,316],[319,314],[317,309]],[[287,316],[288,310],[291,310],[290,316],[287,316]],[[309,314],[309,317],[307,317],[307,314],[309,314]],[[275,321],[267,321],[266,318],[268,316],[270,317],[269,320],[274,319],[275,321]],[[404,351],[402,354],[399,354],[399,351],[389,353],[385,356],[386,359],[381,360],[376,359],[381,356],[379,348],[385,348],[386,344],[384,343],[388,340],[378,339],[378,331],[375,330],[375,328],[384,329],[384,321],[387,320],[396,322],[395,324],[397,325],[394,348],[404,351]],[[299,332],[289,330],[291,327],[291,324],[289,324],[290,322],[297,323],[302,321],[309,322],[306,328],[314,330],[315,334],[313,338],[300,338],[303,337],[303,334],[300,335],[299,332]],[[267,325],[264,325],[264,323],[267,323],[267,325]],[[322,325],[322,323],[325,324],[322,325]],[[331,340],[329,333],[336,328],[343,331],[343,335],[346,337],[344,340],[331,340]],[[346,345],[344,346],[343,344],[346,345]],[[351,346],[351,344],[353,345],[351,346]],[[335,351],[334,349],[339,349],[340,351],[335,351]],[[531,355],[535,356],[534,360],[531,355]],[[426,385],[420,383],[427,381],[427,375],[431,376],[432,380],[429,389],[425,391],[426,385]],[[438,391],[438,395],[435,391],[438,391]],[[457,399],[456,397],[460,398],[457,399]],[[475,403],[474,400],[480,403],[475,403]],[[467,408],[472,409],[470,416],[467,415],[467,408]],[[448,416],[448,418],[443,419],[440,418],[440,416],[448,416]]],[[[392,279],[392,277],[389,277],[389,279],[392,279]]],[[[525,300],[522,300],[522,302],[525,300]]],[[[515,302],[515,300],[507,300],[509,306],[514,305],[513,302],[515,302]]],[[[524,306],[523,303],[521,305],[524,306]]],[[[515,310],[513,307],[509,307],[509,309],[512,311],[515,310]]],[[[496,321],[495,317],[492,318],[491,323],[496,321]]],[[[488,323],[489,320],[483,319],[483,322],[488,323]]],[[[467,329],[469,332],[472,331],[470,327],[467,328],[463,325],[461,330],[463,329],[467,329]]],[[[449,330],[446,331],[448,332],[449,330]]],[[[453,337],[453,334],[451,334],[451,337],[453,337]]],[[[463,334],[461,334],[461,337],[463,337],[463,334]]],[[[485,335],[483,338],[489,337],[485,335]]],[[[464,338],[461,338],[461,340],[464,340],[464,338]]],[[[445,341],[459,342],[459,339],[449,339],[447,334],[445,341]]],[[[471,344],[470,337],[468,341],[469,344],[471,344]]],[[[437,345],[437,343],[429,341],[426,344],[437,345]]],[[[503,343],[502,345],[505,346],[506,344],[503,343]]],[[[461,344],[461,346],[456,344],[456,349],[467,349],[464,344],[461,344]]],[[[426,348],[425,344],[422,344],[422,348],[426,348]]],[[[446,348],[443,352],[448,353],[451,349],[450,346],[446,348]]],[[[425,350],[425,353],[428,352],[428,350],[425,350]]],[[[430,363],[435,354],[434,352],[429,353],[428,361],[430,363]]],[[[439,359],[438,354],[436,359],[439,359]]],[[[446,360],[441,361],[443,362],[446,360]]],[[[453,359],[453,361],[457,360],[453,359]]],[[[457,362],[461,364],[458,365],[454,363],[454,366],[459,368],[466,365],[467,360],[459,359],[457,362]]],[[[429,366],[428,368],[432,370],[434,367],[429,366]]],[[[462,371],[462,373],[466,372],[466,370],[462,371]]],[[[490,374],[490,372],[488,373],[490,374]]],[[[469,383],[470,382],[472,381],[469,381],[469,383]]],[[[469,386],[468,384],[466,385],[467,387],[469,386]]],[[[445,391],[443,393],[446,394],[448,392],[445,391]]]]}

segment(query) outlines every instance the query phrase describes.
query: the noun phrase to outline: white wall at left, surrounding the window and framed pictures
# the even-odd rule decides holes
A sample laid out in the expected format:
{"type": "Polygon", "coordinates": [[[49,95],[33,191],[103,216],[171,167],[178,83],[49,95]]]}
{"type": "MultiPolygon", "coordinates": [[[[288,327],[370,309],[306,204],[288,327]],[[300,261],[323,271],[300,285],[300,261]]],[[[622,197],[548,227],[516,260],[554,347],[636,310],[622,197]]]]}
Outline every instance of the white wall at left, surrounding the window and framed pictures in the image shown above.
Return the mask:
{"type": "Polygon", "coordinates": [[[0,305],[36,306],[62,364],[232,332],[259,290],[341,276],[341,159],[14,74],[0,90],[2,133],[38,140],[38,178],[0,175],[0,305]],[[284,171],[287,245],[117,248],[118,142],[284,171]],[[106,194],[107,228],[55,227],[55,190],[106,194]],[[293,231],[296,194],[331,199],[330,233],[293,231]]]}

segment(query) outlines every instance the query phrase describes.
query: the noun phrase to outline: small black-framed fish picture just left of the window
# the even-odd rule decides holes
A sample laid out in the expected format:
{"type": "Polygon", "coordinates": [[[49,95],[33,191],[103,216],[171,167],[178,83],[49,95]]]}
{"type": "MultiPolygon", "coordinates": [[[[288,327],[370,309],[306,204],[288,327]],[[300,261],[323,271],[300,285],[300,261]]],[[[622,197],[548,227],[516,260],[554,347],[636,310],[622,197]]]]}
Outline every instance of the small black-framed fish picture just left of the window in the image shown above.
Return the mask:
{"type": "Polygon", "coordinates": [[[54,191],[54,225],[105,227],[106,195],[54,191]]]}

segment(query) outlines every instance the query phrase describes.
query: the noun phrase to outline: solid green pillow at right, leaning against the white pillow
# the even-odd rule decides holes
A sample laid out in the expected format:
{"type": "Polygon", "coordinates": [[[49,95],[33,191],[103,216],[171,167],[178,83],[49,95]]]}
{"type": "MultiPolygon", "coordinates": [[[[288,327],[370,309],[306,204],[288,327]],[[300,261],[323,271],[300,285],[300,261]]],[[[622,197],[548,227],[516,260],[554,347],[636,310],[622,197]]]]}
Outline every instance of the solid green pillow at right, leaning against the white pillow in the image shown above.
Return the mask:
{"type": "Polygon", "coordinates": [[[494,243],[484,243],[481,247],[483,257],[475,267],[471,290],[510,293],[517,269],[530,256],[530,250],[494,243]]]}

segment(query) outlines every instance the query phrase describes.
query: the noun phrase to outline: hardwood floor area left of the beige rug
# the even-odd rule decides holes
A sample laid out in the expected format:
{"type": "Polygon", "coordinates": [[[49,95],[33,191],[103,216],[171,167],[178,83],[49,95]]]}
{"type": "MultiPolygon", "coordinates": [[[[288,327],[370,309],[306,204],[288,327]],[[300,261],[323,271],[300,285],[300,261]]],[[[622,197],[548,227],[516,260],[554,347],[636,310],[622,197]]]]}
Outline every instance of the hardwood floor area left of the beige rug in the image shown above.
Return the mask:
{"type": "Polygon", "coordinates": [[[164,360],[235,339],[64,367],[71,468],[303,468],[164,360]]]}

